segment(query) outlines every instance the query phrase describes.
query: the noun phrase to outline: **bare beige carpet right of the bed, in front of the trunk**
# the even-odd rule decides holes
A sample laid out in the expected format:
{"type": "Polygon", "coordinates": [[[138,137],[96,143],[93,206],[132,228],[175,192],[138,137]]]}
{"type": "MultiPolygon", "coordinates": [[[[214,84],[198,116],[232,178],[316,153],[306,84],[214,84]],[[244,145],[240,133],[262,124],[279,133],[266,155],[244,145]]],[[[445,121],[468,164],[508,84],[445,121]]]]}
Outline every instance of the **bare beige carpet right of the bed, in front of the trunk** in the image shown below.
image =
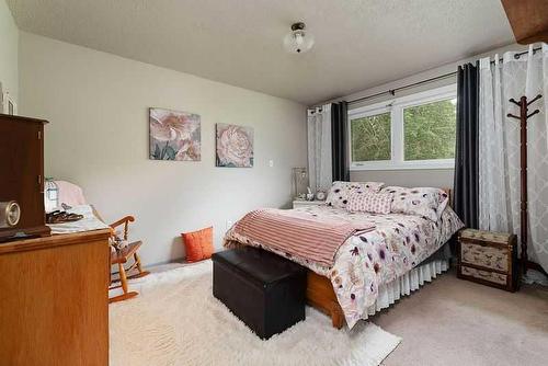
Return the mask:
{"type": "Polygon", "coordinates": [[[384,365],[548,365],[548,288],[511,294],[449,272],[370,319],[402,338],[384,365]]]}

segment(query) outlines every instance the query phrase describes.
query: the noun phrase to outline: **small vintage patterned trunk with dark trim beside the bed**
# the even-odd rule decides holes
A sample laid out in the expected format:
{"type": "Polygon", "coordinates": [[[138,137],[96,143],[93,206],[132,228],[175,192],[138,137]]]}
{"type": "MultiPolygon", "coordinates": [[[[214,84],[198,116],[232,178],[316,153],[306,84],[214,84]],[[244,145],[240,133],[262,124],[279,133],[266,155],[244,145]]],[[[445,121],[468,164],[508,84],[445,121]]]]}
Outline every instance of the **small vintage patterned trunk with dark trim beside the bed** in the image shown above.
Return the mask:
{"type": "Polygon", "coordinates": [[[459,278],[515,291],[520,285],[517,237],[465,229],[458,236],[459,278]]]}

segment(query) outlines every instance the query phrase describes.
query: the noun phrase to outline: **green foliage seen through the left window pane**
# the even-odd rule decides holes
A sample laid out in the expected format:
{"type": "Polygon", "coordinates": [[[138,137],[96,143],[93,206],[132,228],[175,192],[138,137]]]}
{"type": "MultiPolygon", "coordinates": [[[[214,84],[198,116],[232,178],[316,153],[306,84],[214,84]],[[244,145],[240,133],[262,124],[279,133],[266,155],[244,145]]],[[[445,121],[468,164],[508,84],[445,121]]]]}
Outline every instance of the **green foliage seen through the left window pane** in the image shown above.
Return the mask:
{"type": "Polygon", "coordinates": [[[352,119],[352,160],[390,160],[390,113],[352,119]]]}

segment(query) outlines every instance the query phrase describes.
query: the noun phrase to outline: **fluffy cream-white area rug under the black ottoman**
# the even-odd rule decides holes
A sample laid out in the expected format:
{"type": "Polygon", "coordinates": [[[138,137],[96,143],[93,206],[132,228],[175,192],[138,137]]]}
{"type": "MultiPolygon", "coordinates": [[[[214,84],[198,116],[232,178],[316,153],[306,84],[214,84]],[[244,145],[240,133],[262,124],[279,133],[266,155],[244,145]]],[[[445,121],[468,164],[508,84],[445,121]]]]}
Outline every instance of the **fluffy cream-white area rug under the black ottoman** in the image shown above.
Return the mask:
{"type": "Polygon", "coordinates": [[[335,330],[307,318],[262,341],[212,295],[212,262],[152,273],[140,295],[110,306],[111,366],[379,365],[401,339],[370,322],[335,330]]]}

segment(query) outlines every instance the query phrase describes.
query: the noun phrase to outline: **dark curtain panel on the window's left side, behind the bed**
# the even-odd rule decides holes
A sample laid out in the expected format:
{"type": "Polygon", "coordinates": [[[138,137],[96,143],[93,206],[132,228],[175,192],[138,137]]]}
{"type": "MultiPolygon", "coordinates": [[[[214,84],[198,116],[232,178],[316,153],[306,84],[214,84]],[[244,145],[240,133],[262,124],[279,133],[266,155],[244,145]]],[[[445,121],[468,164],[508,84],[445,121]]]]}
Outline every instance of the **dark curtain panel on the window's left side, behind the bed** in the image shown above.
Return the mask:
{"type": "Polygon", "coordinates": [[[333,181],[350,181],[347,159],[349,103],[331,104],[331,159],[333,181]]]}

